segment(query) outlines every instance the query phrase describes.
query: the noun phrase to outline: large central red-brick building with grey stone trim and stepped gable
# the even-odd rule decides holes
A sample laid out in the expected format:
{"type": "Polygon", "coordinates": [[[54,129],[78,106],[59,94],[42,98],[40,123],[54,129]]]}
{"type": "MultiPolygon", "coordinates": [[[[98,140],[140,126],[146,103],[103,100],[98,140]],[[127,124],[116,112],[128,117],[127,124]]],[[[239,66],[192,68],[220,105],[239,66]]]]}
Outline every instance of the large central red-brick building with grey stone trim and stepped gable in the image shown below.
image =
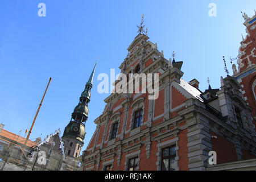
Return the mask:
{"type": "Polygon", "coordinates": [[[199,81],[181,78],[183,62],[165,59],[142,32],[119,68],[129,82],[129,73],[159,73],[159,97],[110,94],[82,152],[84,170],[206,170],[214,167],[209,151],[217,152],[217,164],[256,158],[253,107],[236,78],[221,77],[220,89],[201,92],[199,81]]]}

